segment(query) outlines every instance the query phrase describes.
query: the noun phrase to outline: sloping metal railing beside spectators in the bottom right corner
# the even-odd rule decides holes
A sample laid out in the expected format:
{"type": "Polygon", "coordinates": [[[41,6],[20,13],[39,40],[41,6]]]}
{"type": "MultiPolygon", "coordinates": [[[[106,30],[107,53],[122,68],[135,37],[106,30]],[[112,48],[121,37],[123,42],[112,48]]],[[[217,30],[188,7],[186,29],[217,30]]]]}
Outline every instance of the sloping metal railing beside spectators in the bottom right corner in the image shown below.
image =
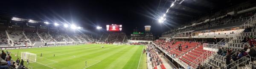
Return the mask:
{"type": "MultiPolygon", "coordinates": [[[[239,65],[240,65],[241,63],[247,63],[247,62],[249,62],[249,61],[251,61],[251,56],[250,56],[250,55],[246,55],[246,56],[244,56],[244,57],[242,57],[242,58],[240,58],[240,59],[238,59],[238,60],[236,60],[236,61],[234,61],[234,62],[228,64],[227,67],[228,67],[228,69],[236,69],[235,67],[237,67],[237,69],[238,69],[238,68],[239,68],[239,65]],[[248,57],[249,57],[249,58],[248,58],[248,57]],[[239,62],[240,62],[240,63],[239,63],[239,62]],[[237,63],[237,64],[232,67],[232,65],[234,65],[235,63],[237,63]],[[230,68],[229,68],[229,67],[230,67],[230,68]]],[[[225,69],[227,69],[227,68],[225,68],[225,69]]]]}

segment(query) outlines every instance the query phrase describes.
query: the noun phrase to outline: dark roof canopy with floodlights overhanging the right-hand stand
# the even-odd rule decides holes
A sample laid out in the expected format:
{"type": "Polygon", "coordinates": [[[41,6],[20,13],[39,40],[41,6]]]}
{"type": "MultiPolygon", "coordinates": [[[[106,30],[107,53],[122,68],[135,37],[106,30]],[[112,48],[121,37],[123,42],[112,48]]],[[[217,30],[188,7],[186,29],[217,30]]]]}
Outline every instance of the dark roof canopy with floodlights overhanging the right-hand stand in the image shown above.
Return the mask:
{"type": "Polygon", "coordinates": [[[157,9],[159,16],[166,14],[168,23],[174,22],[184,25],[211,13],[227,12],[230,10],[227,8],[232,8],[245,2],[250,3],[253,0],[184,0],[182,3],[180,1],[182,0],[161,0],[157,9]],[[172,3],[175,4],[170,8],[172,3]],[[168,8],[170,9],[166,13],[168,8]]]}

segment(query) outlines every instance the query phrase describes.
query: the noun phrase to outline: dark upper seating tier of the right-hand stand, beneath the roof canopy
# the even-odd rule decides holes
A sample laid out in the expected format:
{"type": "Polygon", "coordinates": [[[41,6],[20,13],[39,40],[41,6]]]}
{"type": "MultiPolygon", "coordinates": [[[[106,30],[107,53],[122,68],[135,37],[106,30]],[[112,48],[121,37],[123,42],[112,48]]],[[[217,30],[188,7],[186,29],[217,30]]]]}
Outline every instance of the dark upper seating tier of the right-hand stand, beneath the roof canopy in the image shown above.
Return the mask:
{"type": "MultiPolygon", "coordinates": [[[[202,29],[202,28],[216,27],[216,26],[220,26],[220,25],[236,23],[239,21],[242,22],[242,21],[246,21],[247,17],[253,16],[254,13],[256,13],[256,10],[241,13],[236,16],[231,16],[229,14],[226,14],[222,18],[214,17],[212,21],[207,21],[207,22],[191,22],[193,24],[186,24],[187,26],[184,26],[183,28],[166,31],[162,34],[162,36],[172,37],[172,36],[174,36],[172,34],[183,33],[186,31],[197,30],[197,29],[202,29]],[[237,19],[241,19],[241,20],[237,20],[237,19]],[[234,20],[234,22],[232,20],[234,20]]],[[[212,17],[209,17],[209,18],[212,18],[212,17]]],[[[178,36],[176,36],[176,37],[178,37],[178,36]]],[[[185,36],[188,36],[188,35],[185,35],[185,36]]]]}

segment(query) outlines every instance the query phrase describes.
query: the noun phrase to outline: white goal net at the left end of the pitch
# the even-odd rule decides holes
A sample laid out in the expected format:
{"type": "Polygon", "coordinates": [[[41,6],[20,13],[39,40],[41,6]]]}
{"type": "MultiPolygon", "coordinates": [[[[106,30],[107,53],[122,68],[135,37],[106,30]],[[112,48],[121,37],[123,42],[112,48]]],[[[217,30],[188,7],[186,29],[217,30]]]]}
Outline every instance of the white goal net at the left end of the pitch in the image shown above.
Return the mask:
{"type": "Polygon", "coordinates": [[[21,56],[20,57],[21,57],[21,59],[23,59],[23,61],[29,60],[29,63],[36,62],[36,54],[34,54],[34,53],[21,52],[21,56]]]}

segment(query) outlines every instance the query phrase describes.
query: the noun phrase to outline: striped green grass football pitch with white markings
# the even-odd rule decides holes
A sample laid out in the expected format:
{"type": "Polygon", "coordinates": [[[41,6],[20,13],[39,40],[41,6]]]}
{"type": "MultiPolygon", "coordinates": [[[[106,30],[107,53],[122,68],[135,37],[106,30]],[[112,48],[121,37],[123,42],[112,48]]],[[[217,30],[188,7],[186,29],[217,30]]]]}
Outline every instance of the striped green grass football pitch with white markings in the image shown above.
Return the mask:
{"type": "MultiPolygon", "coordinates": [[[[14,53],[37,54],[29,69],[147,69],[144,45],[80,44],[75,46],[41,47],[8,50],[14,53]],[[102,48],[104,46],[104,48],[102,48]],[[43,54],[40,57],[41,53],[43,54]],[[55,56],[53,56],[55,54],[55,56]],[[87,61],[87,66],[85,61],[87,61]]],[[[24,62],[27,66],[26,61],[24,62]]]]}

